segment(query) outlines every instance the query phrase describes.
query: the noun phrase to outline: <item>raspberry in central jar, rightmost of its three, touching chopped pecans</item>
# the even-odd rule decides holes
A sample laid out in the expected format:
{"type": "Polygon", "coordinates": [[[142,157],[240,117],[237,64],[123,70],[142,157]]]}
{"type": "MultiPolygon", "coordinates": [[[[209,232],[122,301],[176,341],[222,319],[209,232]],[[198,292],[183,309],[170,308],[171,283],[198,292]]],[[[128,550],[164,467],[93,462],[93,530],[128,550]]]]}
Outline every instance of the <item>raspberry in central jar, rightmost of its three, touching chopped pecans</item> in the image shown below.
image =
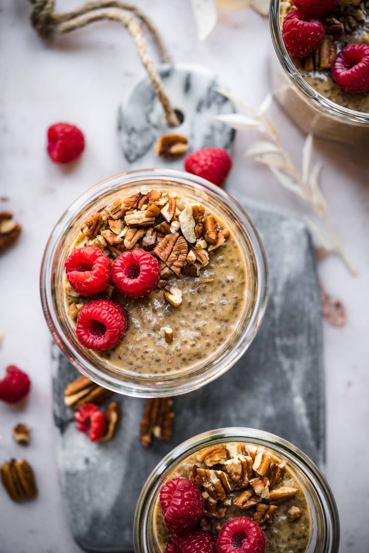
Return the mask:
{"type": "Polygon", "coordinates": [[[111,272],[118,290],[131,298],[146,296],[156,288],[160,279],[158,260],[141,248],[121,253],[111,272]]]}

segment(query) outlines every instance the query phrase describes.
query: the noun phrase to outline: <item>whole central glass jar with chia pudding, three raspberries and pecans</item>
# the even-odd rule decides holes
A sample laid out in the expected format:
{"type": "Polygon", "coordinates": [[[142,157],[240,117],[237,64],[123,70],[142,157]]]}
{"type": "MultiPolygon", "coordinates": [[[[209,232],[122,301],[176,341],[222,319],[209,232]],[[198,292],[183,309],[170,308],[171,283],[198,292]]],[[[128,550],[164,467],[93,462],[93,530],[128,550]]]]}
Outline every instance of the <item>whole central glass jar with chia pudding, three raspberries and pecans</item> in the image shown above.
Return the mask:
{"type": "Polygon", "coordinates": [[[41,300],[62,351],[128,395],[189,392],[230,368],[266,307],[262,244],[242,208],[195,175],[132,171],[64,213],[41,300]]]}

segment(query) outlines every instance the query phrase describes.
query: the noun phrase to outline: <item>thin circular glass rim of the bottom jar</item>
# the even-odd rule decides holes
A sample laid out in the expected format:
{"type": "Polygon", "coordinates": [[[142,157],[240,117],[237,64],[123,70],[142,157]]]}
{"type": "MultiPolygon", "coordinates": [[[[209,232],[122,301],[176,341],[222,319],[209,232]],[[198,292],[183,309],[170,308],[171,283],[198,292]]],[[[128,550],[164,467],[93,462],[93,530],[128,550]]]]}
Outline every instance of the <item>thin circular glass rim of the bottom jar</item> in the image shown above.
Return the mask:
{"type": "Polygon", "coordinates": [[[322,507],[327,539],[329,540],[329,549],[325,549],[319,553],[337,553],[340,542],[339,515],[329,484],[320,469],[303,451],[291,444],[288,440],[264,430],[241,426],[220,428],[193,436],[189,440],[173,448],[173,450],[167,453],[162,461],[153,469],[139,495],[134,515],[133,538],[134,551],[136,553],[146,553],[147,551],[142,548],[142,540],[147,530],[150,508],[154,506],[154,495],[158,492],[158,488],[162,482],[160,477],[163,473],[169,473],[174,466],[178,464],[179,460],[183,461],[186,457],[200,448],[208,447],[211,442],[221,443],[223,441],[250,441],[252,444],[269,447],[277,455],[279,454],[286,457],[290,463],[298,467],[309,479],[322,507]],[[328,512],[325,512],[324,508],[326,508],[328,512]]]}

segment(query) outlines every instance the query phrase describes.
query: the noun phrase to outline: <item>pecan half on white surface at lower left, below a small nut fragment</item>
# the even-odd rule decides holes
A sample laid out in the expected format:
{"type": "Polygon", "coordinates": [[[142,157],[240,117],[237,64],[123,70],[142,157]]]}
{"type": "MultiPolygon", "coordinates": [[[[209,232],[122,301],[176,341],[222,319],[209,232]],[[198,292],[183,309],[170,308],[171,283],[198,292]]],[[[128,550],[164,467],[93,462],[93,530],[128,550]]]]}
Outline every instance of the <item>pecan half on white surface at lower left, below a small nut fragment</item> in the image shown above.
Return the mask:
{"type": "Polygon", "coordinates": [[[5,461],[0,467],[0,477],[14,501],[33,499],[37,495],[33,470],[24,459],[5,461]]]}

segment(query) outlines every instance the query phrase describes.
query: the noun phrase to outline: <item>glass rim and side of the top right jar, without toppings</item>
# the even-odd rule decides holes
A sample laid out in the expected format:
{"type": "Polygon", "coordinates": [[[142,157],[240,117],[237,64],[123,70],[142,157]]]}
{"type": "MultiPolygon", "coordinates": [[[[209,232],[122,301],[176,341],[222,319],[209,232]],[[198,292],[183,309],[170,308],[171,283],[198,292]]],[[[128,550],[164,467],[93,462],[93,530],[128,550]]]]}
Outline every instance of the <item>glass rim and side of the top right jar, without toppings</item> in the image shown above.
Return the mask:
{"type": "Polygon", "coordinates": [[[283,44],[280,28],[281,0],[271,0],[270,26],[273,95],[291,119],[306,133],[346,144],[369,139],[369,113],[331,102],[316,92],[299,74],[283,44]]]}

